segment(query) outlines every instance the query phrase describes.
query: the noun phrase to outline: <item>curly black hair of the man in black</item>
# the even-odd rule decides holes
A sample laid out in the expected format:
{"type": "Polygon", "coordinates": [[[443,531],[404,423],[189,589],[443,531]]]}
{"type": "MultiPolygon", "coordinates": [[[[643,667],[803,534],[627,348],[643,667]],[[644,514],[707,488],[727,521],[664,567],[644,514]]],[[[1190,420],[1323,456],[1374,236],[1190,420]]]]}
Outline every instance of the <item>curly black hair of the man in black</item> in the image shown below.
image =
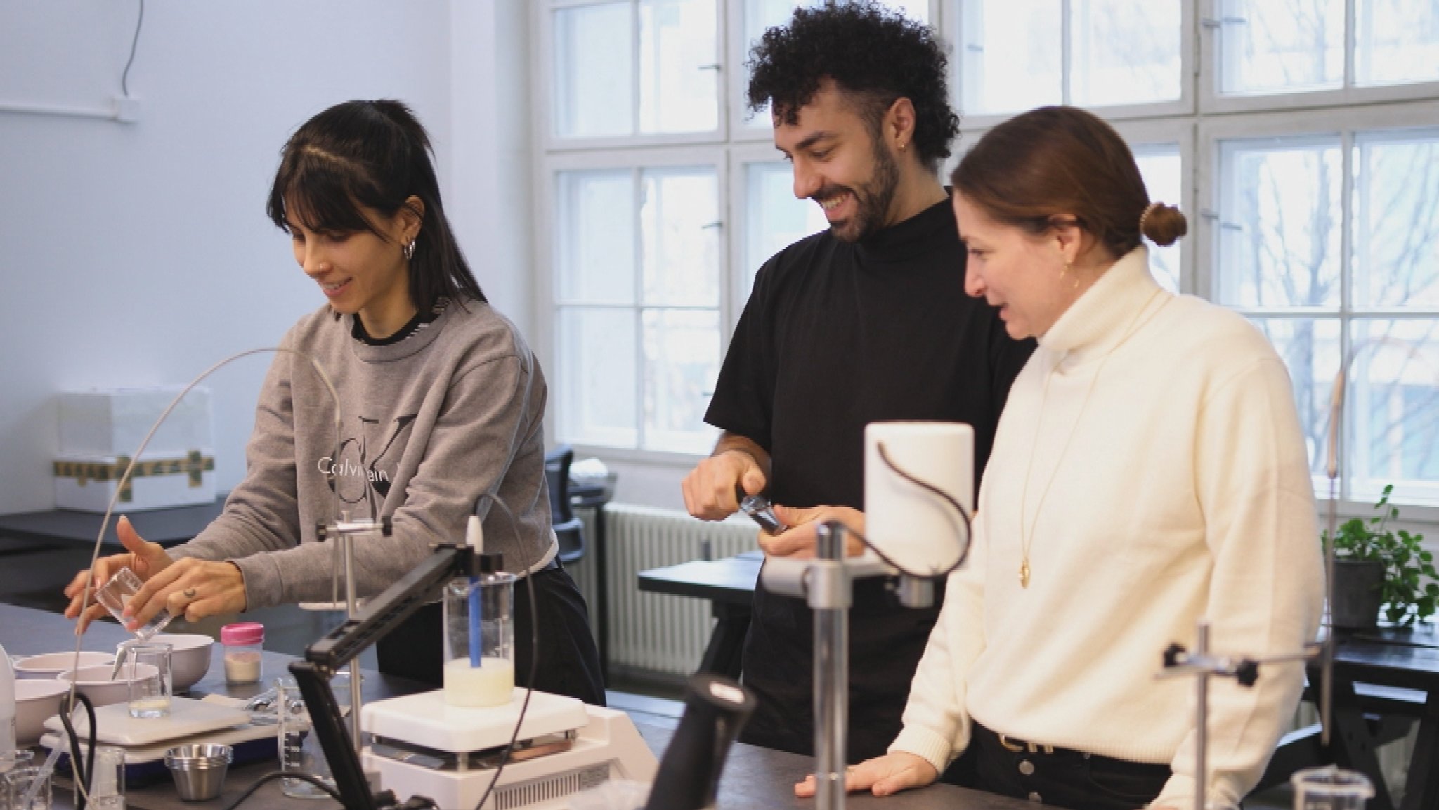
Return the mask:
{"type": "Polygon", "coordinates": [[[930,26],[869,0],[796,9],[789,26],[776,26],[750,49],[751,112],[766,102],[786,124],[833,79],[859,105],[872,137],[885,111],[901,98],[914,104],[914,145],[934,171],[950,157],[960,118],[950,109],[948,56],[930,26]]]}

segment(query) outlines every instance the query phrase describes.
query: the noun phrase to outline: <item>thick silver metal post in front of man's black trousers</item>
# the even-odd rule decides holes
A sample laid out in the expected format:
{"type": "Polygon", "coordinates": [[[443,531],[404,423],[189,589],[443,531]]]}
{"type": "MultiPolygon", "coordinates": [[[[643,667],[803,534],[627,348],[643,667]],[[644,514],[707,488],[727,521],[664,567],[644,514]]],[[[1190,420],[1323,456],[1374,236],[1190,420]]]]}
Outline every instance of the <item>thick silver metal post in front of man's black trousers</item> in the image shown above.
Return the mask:
{"type": "Polygon", "coordinates": [[[819,527],[816,557],[829,575],[814,577],[814,758],[816,807],[845,807],[845,748],[849,731],[849,577],[845,527],[819,527]],[[819,603],[819,606],[816,606],[819,603]]]}

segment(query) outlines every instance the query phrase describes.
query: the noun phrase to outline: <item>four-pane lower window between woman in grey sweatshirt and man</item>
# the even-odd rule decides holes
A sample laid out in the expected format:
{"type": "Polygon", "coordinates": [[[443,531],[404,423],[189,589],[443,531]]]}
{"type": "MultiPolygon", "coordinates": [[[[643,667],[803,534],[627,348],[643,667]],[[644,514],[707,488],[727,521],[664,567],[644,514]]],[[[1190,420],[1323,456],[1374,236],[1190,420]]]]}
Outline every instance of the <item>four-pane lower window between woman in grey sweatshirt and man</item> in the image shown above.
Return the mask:
{"type": "Polygon", "coordinates": [[[554,181],[564,439],[707,452],[722,334],[717,167],[574,168],[554,181]]]}

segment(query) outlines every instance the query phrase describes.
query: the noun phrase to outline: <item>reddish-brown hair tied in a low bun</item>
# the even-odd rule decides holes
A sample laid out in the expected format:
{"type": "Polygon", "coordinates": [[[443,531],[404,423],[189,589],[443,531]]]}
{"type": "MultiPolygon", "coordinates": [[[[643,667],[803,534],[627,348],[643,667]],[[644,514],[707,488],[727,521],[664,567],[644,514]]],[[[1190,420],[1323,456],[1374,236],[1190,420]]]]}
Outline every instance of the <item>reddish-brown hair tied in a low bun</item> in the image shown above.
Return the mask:
{"type": "Polygon", "coordinates": [[[1075,106],[1040,106],[994,127],[960,160],[950,183],[994,220],[1029,233],[1049,230],[1056,214],[1073,214],[1117,258],[1138,247],[1141,217],[1143,236],[1156,245],[1189,232],[1177,207],[1150,207],[1120,134],[1075,106]]]}

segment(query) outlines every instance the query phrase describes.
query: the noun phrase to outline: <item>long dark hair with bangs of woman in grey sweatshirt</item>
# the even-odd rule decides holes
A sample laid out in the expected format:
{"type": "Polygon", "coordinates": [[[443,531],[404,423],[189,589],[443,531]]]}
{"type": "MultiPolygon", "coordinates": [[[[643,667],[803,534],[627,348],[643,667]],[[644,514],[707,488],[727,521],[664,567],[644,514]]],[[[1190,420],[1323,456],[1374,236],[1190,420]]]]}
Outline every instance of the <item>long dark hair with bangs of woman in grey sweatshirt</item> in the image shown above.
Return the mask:
{"type": "Polygon", "coordinates": [[[281,150],[265,213],[318,232],[386,235],[361,207],[394,216],[412,196],[425,203],[410,256],[410,302],[425,312],[440,298],[486,301],[440,206],[430,137],[399,101],[347,101],[315,115],[281,150]]]}

